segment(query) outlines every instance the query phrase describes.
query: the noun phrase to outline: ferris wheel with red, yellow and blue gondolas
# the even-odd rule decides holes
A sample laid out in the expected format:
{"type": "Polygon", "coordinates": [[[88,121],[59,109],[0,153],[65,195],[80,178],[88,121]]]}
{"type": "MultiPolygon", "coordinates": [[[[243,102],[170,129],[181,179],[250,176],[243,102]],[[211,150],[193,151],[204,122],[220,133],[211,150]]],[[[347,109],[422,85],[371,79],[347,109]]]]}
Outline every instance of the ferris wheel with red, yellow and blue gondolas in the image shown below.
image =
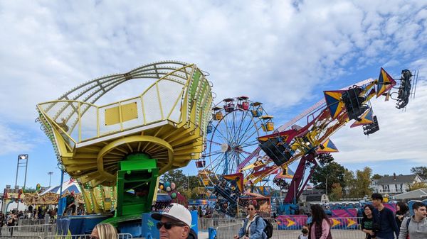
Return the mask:
{"type": "Polygon", "coordinates": [[[242,169],[262,160],[264,155],[253,151],[260,136],[274,130],[273,116],[263,109],[263,104],[249,100],[248,96],[223,99],[213,109],[207,127],[206,149],[196,162],[199,177],[205,187],[213,187],[226,175],[243,174],[253,170],[242,169]]]}

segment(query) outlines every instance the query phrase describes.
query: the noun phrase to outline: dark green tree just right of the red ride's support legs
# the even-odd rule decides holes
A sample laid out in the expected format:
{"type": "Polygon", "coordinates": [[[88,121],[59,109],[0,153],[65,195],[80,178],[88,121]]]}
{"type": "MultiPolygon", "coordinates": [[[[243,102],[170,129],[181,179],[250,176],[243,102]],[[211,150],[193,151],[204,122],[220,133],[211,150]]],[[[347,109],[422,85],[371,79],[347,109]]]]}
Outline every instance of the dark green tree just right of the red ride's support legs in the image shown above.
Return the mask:
{"type": "Polygon", "coordinates": [[[344,174],[347,171],[342,165],[337,162],[330,162],[325,164],[323,167],[316,167],[312,174],[310,182],[315,185],[317,189],[326,189],[332,191],[332,184],[339,183],[342,187],[346,187],[344,182],[344,174]]]}

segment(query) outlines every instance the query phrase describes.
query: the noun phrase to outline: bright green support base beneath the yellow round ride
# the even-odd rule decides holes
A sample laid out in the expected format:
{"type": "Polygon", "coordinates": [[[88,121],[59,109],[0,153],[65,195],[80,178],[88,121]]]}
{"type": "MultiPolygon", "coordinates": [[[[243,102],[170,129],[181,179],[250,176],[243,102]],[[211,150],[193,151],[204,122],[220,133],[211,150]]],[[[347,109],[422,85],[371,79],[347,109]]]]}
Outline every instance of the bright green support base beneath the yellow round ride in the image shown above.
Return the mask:
{"type": "Polygon", "coordinates": [[[142,213],[152,209],[159,168],[157,160],[143,153],[127,155],[117,171],[117,206],[115,216],[102,223],[113,226],[141,221],[142,213]],[[131,190],[134,193],[130,192],[131,190]]]}

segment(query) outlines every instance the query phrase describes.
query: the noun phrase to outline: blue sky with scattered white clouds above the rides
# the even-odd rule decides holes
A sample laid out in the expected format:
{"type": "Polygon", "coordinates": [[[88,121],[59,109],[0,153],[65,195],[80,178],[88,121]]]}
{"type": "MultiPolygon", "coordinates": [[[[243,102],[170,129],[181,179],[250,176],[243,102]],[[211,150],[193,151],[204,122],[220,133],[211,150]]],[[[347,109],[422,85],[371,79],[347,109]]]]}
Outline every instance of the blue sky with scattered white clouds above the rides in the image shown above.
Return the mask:
{"type": "MultiPolygon", "coordinates": [[[[48,172],[51,184],[60,182],[51,143],[34,122],[36,104],[162,60],[209,72],[216,102],[241,95],[263,102],[276,126],[324,90],[377,78],[380,67],[393,77],[419,70],[406,111],[373,99],[381,130],[367,138],[347,125],[332,140],[335,160],[351,170],[409,174],[427,165],[426,1],[0,0],[0,32],[0,187],[15,184],[19,154],[29,155],[27,187],[48,186],[48,172]]],[[[134,81],[103,100],[143,90],[134,81]]]]}

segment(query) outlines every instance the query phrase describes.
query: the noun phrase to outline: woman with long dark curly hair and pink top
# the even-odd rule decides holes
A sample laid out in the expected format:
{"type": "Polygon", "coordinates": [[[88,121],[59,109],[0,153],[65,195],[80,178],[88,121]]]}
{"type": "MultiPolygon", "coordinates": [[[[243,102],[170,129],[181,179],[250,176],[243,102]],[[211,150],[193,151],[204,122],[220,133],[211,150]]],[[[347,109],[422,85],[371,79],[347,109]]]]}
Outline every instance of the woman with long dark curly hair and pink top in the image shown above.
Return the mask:
{"type": "Polygon", "coordinates": [[[310,206],[312,223],[310,223],[309,239],[332,239],[331,222],[319,204],[310,206]]]}

